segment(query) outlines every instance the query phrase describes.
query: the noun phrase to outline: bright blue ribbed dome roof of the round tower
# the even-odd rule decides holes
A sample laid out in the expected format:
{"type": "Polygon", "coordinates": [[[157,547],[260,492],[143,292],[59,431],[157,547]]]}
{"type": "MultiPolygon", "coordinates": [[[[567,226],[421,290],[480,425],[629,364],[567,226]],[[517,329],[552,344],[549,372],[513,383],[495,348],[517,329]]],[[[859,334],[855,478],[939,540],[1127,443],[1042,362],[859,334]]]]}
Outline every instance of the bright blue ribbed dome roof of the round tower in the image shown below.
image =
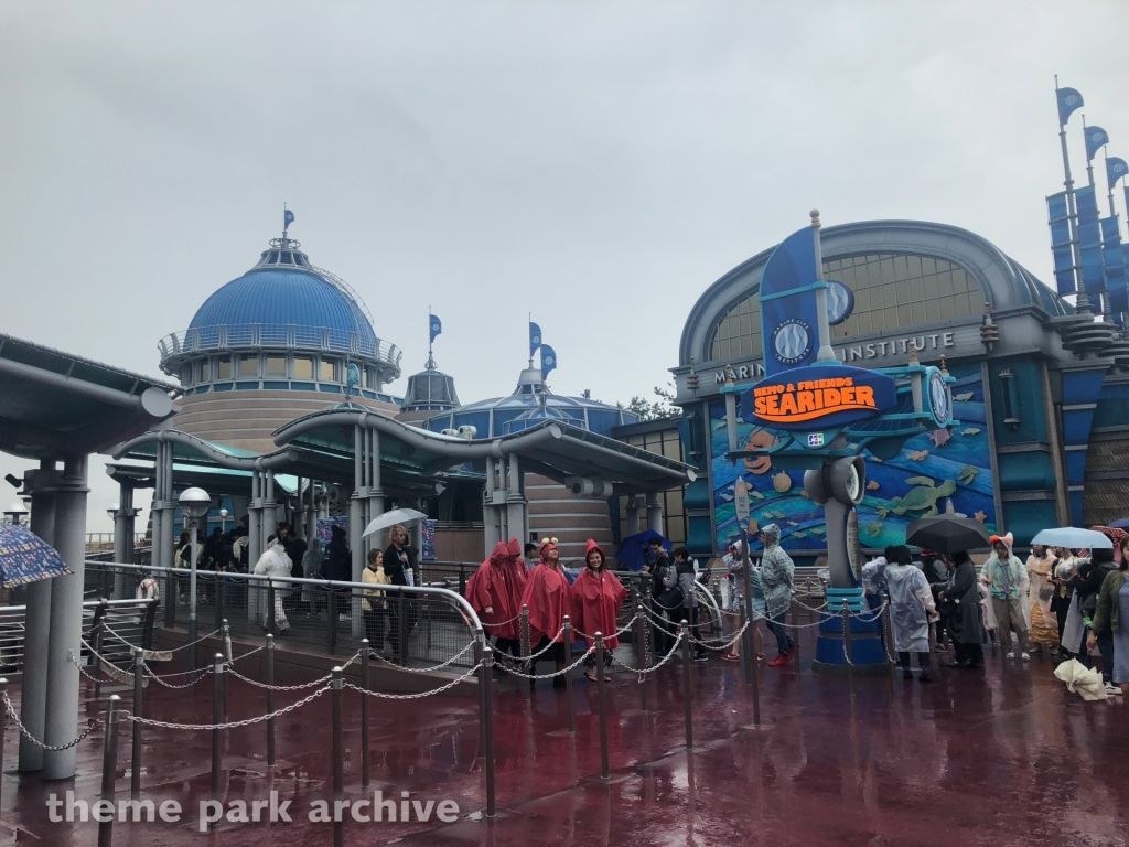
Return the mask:
{"type": "Polygon", "coordinates": [[[336,286],[312,272],[263,269],[234,279],[204,300],[189,329],[297,325],[356,332],[371,349],[376,333],[360,307],[336,286]]]}

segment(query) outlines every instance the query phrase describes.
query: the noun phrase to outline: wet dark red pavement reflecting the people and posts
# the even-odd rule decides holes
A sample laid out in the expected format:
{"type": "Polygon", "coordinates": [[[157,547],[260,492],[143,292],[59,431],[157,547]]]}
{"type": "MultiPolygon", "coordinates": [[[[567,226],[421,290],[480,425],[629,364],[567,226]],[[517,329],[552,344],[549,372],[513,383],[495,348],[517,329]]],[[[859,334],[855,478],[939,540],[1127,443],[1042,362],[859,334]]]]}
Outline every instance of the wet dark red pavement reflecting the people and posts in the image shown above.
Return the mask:
{"type": "MultiPolygon", "coordinates": [[[[805,665],[812,646],[805,638],[805,665]]],[[[990,656],[982,672],[940,669],[930,686],[903,682],[900,673],[894,680],[858,680],[852,696],[846,679],[762,666],[758,728],[738,667],[714,658],[691,667],[694,749],[689,753],[681,667],[655,674],[646,713],[636,675],[616,673],[609,686],[606,781],[599,778],[595,687],[578,679],[577,732],[569,736],[563,692],[549,682],[532,692],[523,686],[496,702],[493,826],[479,819],[484,777],[474,699],[373,700],[373,786],[362,792],[360,695],[347,691],[347,798],[371,800],[379,791],[382,800],[400,801],[409,792],[419,810],[409,807],[409,822],[399,820],[402,809],[395,822],[348,820],[344,842],[1124,845],[1129,705],[1121,698],[1083,702],[1051,669],[1038,656],[1027,667],[990,656]],[[457,804],[454,823],[437,820],[441,801],[457,804]],[[427,812],[430,819],[420,822],[419,813],[427,812]]],[[[94,715],[99,704],[84,686],[84,709],[94,715]]],[[[230,719],[263,714],[260,689],[233,680],[230,693],[230,719]]],[[[280,693],[277,706],[304,693],[280,693]]],[[[211,716],[208,679],[186,691],[150,686],[147,697],[149,717],[207,723],[211,716]]],[[[129,695],[124,699],[128,706],[129,695]]],[[[129,798],[124,726],[119,800],[129,798]]],[[[327,693],[280,718],[273,769],[265,766],[262,724],[226,733],[225,798],[265,801],[277,791],[280,803],[290,801],[292,822],[224,822],[210,835],[198,832],[198,804],[210,792],[211,734],[147,727],[142,797],[175,801],[185,811],[180,822],[115,823],[113,842],[332,844],[332,824],[307,820],[315,800],[332,800],[330,727],[327,693]]],[[[52,823],[46,800],[68,789],[78,798],[97,798],[102,731],[79,745],[80,776],[53,784],[15,771],[16,741],[9,726],[0,840],[96,844],[97,824],[52,823]]]]}

